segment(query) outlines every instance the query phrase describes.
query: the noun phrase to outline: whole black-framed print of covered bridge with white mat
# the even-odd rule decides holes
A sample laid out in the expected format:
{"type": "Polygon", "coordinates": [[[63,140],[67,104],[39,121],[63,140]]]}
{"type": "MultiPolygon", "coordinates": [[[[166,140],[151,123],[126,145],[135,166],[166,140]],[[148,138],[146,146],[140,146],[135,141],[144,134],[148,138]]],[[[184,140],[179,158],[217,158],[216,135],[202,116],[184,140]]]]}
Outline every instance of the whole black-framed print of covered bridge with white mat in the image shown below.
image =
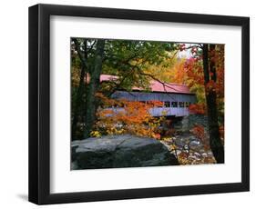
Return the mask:
{"type": "Polygon", "coordinates": [[[29,201],[250,189],[250,19],[29,7],[29,201]]]}

